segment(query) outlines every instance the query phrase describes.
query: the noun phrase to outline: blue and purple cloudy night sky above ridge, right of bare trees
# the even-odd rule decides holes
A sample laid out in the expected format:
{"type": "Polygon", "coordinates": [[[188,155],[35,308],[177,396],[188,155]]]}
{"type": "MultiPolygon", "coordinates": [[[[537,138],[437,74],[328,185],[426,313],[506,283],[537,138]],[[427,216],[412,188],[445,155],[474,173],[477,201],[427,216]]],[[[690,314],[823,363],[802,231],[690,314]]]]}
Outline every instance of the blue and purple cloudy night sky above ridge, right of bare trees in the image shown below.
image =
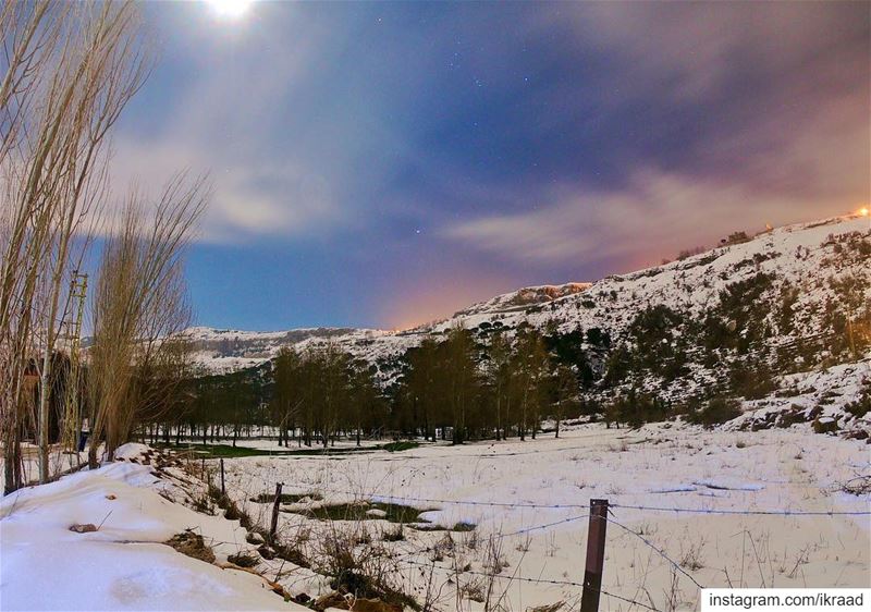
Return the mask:
{"type": "Polygon", "coordinates": [[[142,10],[112,181],[209,173],[198,325],[405,328],[871,201],[867,2],[142,10]]]}

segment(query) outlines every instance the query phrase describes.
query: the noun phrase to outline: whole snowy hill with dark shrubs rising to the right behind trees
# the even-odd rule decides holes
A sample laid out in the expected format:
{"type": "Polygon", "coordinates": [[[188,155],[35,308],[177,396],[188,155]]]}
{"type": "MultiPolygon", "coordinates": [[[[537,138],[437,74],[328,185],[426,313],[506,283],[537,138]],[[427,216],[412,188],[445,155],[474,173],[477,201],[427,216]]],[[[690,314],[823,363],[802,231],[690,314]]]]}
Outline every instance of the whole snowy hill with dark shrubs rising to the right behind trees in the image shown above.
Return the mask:
{"type": "MultiPolygon", "coordinates": [[[[855,367],[822,378],[835,388],[849,382],[856,392],[841,402],[815,397],[811,407],[861,401],[871,356],[870,305],[868,220],[839,217],[755,236],[733,234],[716,248],[593,283],[520,289],[403,331],[196,328],[191,336],[198,362],[213,374],[262,365],[282,346],[332,342],[373,364],[389,385],[401,375],[406,352],[424,338],[463,326],[474,331],[483,354],[494,330],[512,334],[529,325],[575,369],[588,399],[631,392],[692,404],[722,394],[765,409],[765,402],[780,397],[774,403],[783,412],[801,405],[785,397],[800,394],[802,377],[820,378],[845,364],[855,367]]],[[[822,414],[811,413],[805,416],[822,414]]]]}

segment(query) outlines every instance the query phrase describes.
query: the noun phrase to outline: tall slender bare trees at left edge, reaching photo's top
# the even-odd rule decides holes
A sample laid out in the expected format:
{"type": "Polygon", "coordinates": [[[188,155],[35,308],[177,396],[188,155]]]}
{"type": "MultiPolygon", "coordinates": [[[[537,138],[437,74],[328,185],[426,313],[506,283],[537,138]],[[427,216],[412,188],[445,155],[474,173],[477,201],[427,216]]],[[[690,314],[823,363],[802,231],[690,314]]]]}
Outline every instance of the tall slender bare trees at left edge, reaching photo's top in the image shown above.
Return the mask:
{"type": "Polygon", "coordinates": [[[0,384],[10,490],[22,484],[21,380],[32,359],[40,366],[40,480],[49,477],[51,363],[69,273],[107,196],[110,130],[150,60],[132,2],[11,2],[0,28],[0,384]]]}

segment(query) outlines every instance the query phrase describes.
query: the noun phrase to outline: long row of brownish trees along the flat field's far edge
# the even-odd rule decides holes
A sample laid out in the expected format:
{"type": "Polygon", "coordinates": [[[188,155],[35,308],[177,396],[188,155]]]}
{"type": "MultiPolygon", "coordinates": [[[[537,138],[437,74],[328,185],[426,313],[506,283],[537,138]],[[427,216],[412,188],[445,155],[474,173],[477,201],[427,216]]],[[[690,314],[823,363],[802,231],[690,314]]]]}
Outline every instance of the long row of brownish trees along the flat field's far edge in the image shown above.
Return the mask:
{"type": "Polygon", "coordinates": [[[165,443],[184,436],[235,445],[266,429],[284,445],[326,448],[341,438],[535,439],[553,418],[559,437],[584,407],[581,370],[561,359],[562,336],[528,325],[480,331],[426,338],[390,380],[331,342],[283,347],[270,367],[191,380],[186,405],[147,430],[165,443]]]}

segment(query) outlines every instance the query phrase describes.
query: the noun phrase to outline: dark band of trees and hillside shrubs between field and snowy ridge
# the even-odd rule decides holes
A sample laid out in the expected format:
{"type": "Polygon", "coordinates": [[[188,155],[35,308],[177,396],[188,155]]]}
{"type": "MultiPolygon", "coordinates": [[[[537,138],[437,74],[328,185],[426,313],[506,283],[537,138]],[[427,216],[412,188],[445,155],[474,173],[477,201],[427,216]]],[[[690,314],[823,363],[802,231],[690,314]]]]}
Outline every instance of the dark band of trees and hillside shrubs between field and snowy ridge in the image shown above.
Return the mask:
{"type": "Polygon", "coordinates": [[[192,437],[229,432],[234,440],[268,427],[284,444],[328,445],[340,437],[524,440],[545,420],[559,436],[565,418],[580,415],[609,427],[678,415],[711,426],[739,414],[737,397],[776,389],[776,372],[799,367],[797,354],[807,367],[855,358],[871,345],[871,310],[861,299],[867,282],[856,274],[830,281],[837,301],[826,304],[818,339],[796,339],[786,352],[771,345],[772,326],[788,336],[795,318],[793,285],[774,280],[759,273],[731,283],[700,316],[650,305],[618,340],[599,328],[565,330],[551,321],[508,329],[496,320],[431,333],[376,364],[329,342],[286,347],[256,376],[199,379],[182,427],[192,437]],[[696,365],[715,379],[692,394],[671,392],[696,365]]]}

